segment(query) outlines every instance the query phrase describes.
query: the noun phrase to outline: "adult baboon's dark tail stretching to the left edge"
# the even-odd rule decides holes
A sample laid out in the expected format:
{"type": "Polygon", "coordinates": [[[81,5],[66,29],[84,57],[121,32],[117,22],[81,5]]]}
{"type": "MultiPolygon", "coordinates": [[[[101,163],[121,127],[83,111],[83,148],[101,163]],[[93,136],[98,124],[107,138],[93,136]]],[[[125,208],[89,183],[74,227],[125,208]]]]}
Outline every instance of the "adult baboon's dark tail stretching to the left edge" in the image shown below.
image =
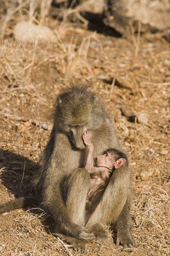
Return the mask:
{"type": "Polygon", "coordinates": [[[1,204],[0,205],[0,214],[9,212],[11,210],[24,208],[26,206],[31,206],[31,205],[37,206],[39,204],[40,204],[40,200],[38,199],[38,197],[33,196],[33,195],[16,198],[13,201],[1,204]]]}

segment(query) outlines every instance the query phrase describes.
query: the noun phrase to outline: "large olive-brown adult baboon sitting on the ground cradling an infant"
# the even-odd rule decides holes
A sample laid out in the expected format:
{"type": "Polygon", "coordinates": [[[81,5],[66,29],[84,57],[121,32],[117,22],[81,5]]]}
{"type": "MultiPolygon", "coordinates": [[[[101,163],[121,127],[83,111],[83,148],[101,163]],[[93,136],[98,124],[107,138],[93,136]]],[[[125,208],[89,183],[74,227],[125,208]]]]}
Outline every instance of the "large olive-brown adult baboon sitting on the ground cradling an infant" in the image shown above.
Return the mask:
{"type": "Polygon", "coordinates": [[[90,183],[90,175],[83,168],[88,153],[82,138],[85,131],[89,132],[94,145],[94,157],[108,148],[122,151],[98,95],[85,86],[72,85],[57,97],[52,133],[43,151],[42,168],[34,180],[42,205],[56,222],[53,233],[84,252],[85,242],[94,238],[106,243],[109,233],[105,226],[115,222],[117,245],[135,246],[130,216],[131,171],[125,165],[115,169],[105,196],[85,222],[90,183]],[[117,194],[113,193],[114,188],[118,189],[117,194]]]}

